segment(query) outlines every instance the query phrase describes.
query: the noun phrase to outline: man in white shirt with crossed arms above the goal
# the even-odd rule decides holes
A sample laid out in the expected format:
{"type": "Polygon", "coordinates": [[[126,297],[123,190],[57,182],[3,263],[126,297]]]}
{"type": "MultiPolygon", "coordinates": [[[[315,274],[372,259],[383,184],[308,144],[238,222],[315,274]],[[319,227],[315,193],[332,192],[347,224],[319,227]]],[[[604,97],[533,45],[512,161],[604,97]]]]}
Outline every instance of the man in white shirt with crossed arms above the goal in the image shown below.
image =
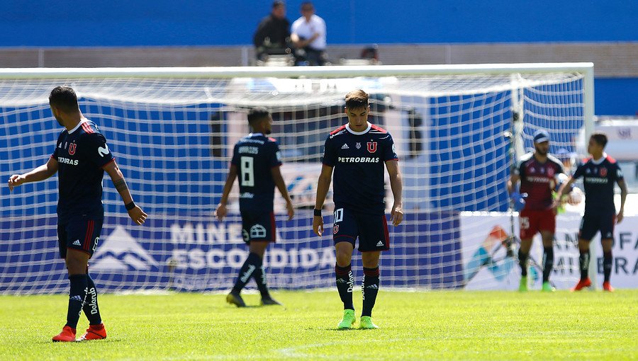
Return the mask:
{"type": "Polygon", "coordinates": [[[313,3],[301,4],[301,18],[293,23],[290,38],[296,47],[296,65],[325,64],[325,21],[315,15],[313,3]]]}

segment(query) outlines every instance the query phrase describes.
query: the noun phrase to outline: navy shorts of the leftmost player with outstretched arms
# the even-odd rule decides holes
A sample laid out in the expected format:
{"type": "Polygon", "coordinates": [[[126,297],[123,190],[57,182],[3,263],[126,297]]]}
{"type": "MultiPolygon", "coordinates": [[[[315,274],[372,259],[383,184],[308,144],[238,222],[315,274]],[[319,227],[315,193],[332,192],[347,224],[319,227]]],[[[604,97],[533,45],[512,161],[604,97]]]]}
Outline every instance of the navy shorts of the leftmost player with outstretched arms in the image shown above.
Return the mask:
{"type": "Polygon", "coordinates": [[[57,246],[60,257],[67,258],[67,248],[77,249],[93,256],[100,241],[103,219],[77,219],[57,225],[57,246]]]}

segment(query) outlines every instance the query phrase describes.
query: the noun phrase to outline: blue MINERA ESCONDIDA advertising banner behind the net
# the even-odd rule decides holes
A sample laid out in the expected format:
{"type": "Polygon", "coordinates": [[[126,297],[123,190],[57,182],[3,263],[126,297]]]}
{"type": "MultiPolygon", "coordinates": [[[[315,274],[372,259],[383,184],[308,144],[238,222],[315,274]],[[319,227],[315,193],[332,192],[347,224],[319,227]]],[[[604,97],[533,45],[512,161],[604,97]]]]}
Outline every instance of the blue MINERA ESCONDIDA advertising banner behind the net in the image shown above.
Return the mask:
{"type": "MultiPolygon", "coordinates": [[[[283,215],[276,217],[277,241],[264,259],[269,287],[334,285],[330,218],[325,217],[325,235],[318,237],[312,232],[310,212],[301,211],[290,224],[283,215]]],[[[8,230],[0,236],[1,293],[66,292],[56,222],[55,217],[1,222],[8,230]]],[[[211,216],[163,214],[151,215],[141,227],[123,216],[106,217],[104,224],[89,271],[107,292],[228,290],[247,257],[236,214],[224,222],[211,216]]],[[[391,250],[381,256],[384,287],[462,287],[458,214],[406,214],[403,224],[391,231],[391,250]]],[[[355,251],[353,270],[361,280],[359,258],[355,251]]]]}

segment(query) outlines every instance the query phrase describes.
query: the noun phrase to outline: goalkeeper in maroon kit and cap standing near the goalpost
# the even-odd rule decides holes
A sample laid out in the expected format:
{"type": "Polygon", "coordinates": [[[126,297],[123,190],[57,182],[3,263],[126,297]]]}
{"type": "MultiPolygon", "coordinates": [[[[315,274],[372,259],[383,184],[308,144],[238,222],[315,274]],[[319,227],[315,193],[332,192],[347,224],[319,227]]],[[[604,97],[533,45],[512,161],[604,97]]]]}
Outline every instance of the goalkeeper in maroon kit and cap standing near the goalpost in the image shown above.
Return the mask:
{"type": "Polygon", "coordinates": [[[520,193],[527,193],[525,208],[519,214],[520,248],[520,285],[518,290],[527,291],[527,257],[532,248],[532,239],[540,232],[543,241],[543,285],[542,290],[552,292],[549,274],[554,267],[554,232],[556,231],[556,210],[552,207],[557,176],[564,174],[561,161],[549,154],[549,133],[538,130],[534,134],[535,151],[520,159],[508,181],[508,192],[513,199],[518,197],[515,191],[520,181],[520,193]]]}

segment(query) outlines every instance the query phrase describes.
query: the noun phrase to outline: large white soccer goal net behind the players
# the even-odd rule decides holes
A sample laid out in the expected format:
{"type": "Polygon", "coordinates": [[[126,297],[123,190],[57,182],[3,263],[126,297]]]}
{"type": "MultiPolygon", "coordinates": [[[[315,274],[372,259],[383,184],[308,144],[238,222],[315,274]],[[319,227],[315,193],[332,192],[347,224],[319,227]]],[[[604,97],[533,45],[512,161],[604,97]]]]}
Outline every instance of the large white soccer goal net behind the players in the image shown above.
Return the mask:
{"type": "MultiPolygon", "coordinates": [[[[250,132],[247,110],[264,106],[274,118],[271,136],[280,144],[281,171],[297,208],[287,221],[276,193],[278,241],[265,258],[269,287],[331,287],[332,239],[329,231],[323,237],[312,233],[312,208],[323,143],[347,122],[345,93],[362,88],[371,99],[369,121],[393,135],[403,173],[405,217],[399,227],[390,227],[382,285],[515,287],[516,260],[501,243],[518,232],[505,188],[510,166],[532,149],[539,128],[552,134],[551,152],[576,150],[579,132],[591,130],[592,72],[592,64],[580,63],[4,69],[0,176],[6,181],[47,161],[62,130],[48,95],[55,86],[72,86],[84,116],[105,135],[135,202],[149,214],[143,226],[135,226],[105,178],[105,221],[89,261],[96,284],[109,291],[227,290],[247,256],[236,184],[230,217],[217,222],[213,211],[233,145],[250,132]]],[[[57,251],[57,176],[13,193],[2,187],[1,195],[0,292],[65,292],[67,275],[57,251]]],[[[330,195],[324,212],[328,230],[330,195]]],[[[386,195],[389,212],[388,182],[386,195]]],[[[552,280],[571,284],[578,275],[575,239],[571,242],[577,217],[559,220],[558,227],[552,280]]],[[[532,263],[540,258],[532,251],[532,263]]],[[[361,280],[357,252],[353,265],[361,280]]]]}

